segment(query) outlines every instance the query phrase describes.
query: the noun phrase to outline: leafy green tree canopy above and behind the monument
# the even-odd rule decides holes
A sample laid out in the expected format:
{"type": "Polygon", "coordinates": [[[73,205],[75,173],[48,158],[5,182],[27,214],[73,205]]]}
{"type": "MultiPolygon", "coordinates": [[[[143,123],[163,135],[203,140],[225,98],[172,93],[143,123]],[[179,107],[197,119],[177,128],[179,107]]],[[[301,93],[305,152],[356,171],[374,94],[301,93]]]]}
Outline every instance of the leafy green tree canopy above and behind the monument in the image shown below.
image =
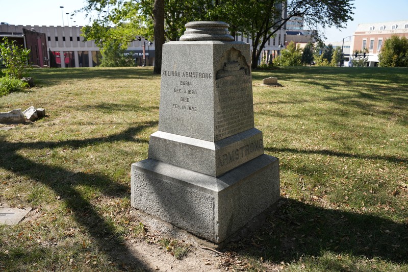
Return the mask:
{"type": "MultiPolygon", "coordinates": [[[[96,16],[84,28],[85,39],[94,39],[103,46],[117,39],[127,46],[136,37],[152,40],[163,35],[168,40],[179,38],[189,21],[218,20],[230,24],[230,32],[251,38],[252,68],[268,40],[293,17],[300,16],[315,29],[318,26],[343,28],[352,20],[353,0],[86,0],[83,11],[96,16]],[[163,5],[156,5],[163,3],[163,5]],[[154,7],[159,7],[154,9],[154,7]],[[285,9],[286,8],[286,9],[285,9]],[[109,10],[109,11],[108,11],[109,10]],[[157,13],[157,12],[161,13],[157,13]],[[285,11],[285,12],[283,12],[285,11]],[[155,15],[156,14],[156,15],[155,15]],[[163,18],[157,14],[163,14],[163,18]],[[159,18],[160,17],[160,18],[159,18]],[[157,25],[158,20],[163,26],[157,25]],[[156,32],[155,32],[155,26],[156,32]]],[[[319,38],[318,32],[314,33],[319,38]]],[[[164,42],[164,40],[163,40],[164,42]]],[[[161,48],[155,43],[156,52],[161,48]]],[[[158,54],[156,53],[156,56],[158,54]]]]}

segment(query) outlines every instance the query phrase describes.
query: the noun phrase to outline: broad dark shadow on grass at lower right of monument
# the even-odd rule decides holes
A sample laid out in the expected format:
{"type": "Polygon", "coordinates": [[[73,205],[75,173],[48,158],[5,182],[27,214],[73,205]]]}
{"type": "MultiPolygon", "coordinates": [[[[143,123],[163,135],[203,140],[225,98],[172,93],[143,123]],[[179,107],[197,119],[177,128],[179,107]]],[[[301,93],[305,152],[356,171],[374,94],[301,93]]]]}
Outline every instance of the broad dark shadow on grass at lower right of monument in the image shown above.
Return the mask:
{"type": "Polygon", "coordinates": [[[272,262],[298,261],[323,251],[408,261],[408,222],[397,224],[378,216],[329,210],[292,199],[281,199],[263,228],[230,248],[272,262]]]}

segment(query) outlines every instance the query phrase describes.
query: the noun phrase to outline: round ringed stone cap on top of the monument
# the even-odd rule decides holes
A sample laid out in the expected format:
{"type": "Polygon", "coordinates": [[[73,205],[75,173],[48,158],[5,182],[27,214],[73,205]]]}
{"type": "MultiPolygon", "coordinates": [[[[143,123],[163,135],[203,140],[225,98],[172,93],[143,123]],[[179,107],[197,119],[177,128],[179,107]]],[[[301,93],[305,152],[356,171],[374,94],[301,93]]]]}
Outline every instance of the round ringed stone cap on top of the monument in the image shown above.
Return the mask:
{"type": "Polygon", "coordinates": [[[185,24],[186,31],[180,37],[181,41],[233,41],[228,27],[221,21],[193,21],[185,24]]]}

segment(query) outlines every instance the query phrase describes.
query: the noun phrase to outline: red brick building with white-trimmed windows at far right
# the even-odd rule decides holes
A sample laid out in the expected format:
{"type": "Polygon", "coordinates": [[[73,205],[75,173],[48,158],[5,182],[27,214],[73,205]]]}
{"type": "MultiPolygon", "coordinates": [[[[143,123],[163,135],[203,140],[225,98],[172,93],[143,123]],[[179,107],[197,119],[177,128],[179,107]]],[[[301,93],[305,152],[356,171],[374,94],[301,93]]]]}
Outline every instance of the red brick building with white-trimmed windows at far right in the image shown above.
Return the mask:
{"type": "Polygon", "coordinates": [[[368,50],[369,66],[378,66],[378,53],[392,35],[408,38],[408,20],[359,24],[354,32],[353,50],[368,50]]]}

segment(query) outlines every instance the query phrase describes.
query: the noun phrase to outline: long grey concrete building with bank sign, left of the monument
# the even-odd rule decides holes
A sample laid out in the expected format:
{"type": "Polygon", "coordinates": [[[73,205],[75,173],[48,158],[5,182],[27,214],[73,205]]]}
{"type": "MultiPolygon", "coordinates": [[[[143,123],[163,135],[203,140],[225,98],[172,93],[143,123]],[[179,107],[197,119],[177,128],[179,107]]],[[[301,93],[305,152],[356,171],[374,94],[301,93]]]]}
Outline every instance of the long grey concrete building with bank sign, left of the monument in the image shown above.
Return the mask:
{"type": "MultiPolygon", "coordinates": [[[[12,39],[28,40],[33,35],[41,36],[46,41],[42,41],[42,52],[34,52],[35,46],[25,47],[32,50],[32,64],[43,67],[95,67],[101,62],[99,47],[93,40],[84,41],[81,36],[82,27],[53,27],[53,26],[15,26],[10,24],[0,25],[0,38],[10,37],[12,39]],[[27,34],[26,34],[27,33],[27,34]],[[34,34],[37,33],[37,34],[34,34]],[[45,50],[44,50],[45,48],[45,50]],[[48,50],[47,50],[48,48],[48,50]],[[41,56],[41,57],[40,57],[41,56]],[[34,59],[39,59],[37,62],[34,59]]],[[[24,44],[24,43],[22,43],[24,44]]],[[[40,46],[38,46],[40,48],[40,46]]],[[[138,65],[151,66],[155,61],[155,46],[144,38],[129,43],[127,54],[135,58],[138,65]],[[143,54],[144,52],[144,54],[143,54]],[[143,58],[145,57],[145,58],[143,58]]]]}

